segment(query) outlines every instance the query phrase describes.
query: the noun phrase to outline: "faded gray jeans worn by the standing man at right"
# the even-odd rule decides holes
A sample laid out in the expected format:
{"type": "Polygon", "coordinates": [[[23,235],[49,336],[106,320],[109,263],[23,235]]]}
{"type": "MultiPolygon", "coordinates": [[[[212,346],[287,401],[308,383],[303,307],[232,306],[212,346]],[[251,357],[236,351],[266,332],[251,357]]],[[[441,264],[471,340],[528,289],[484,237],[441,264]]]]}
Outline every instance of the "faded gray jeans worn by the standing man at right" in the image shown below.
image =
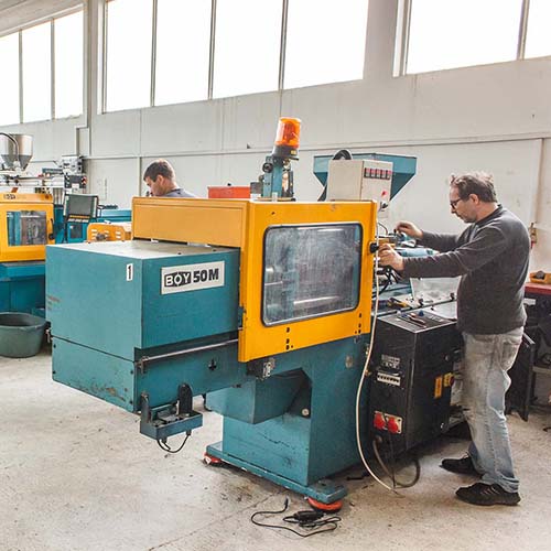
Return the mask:
{"type": "Polygon", "coordinates": [[[511,383],[507,371],[517,357],[522,327],[500,335],[463,333],[463,339],[462,403],[473,439],[468,455],[483,475],[483,483],[518,491],[505,418],[505,393],[511,383]]]}

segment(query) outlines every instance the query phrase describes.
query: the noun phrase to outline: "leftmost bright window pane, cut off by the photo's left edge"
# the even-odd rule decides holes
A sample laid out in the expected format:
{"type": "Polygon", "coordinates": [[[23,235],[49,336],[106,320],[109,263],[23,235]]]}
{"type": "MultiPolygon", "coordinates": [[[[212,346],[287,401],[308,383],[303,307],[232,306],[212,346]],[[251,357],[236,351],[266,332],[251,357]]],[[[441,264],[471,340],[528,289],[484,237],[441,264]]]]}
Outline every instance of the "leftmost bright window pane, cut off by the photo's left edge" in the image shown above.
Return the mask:
{"type": "Polygon", "coordinates": [[[4,85],[0,101],[0,126],[19,122],[19,33],[0,39],[0,67],[4,85]],[[7,85],[6,83],[8,83],[7,85]]]}

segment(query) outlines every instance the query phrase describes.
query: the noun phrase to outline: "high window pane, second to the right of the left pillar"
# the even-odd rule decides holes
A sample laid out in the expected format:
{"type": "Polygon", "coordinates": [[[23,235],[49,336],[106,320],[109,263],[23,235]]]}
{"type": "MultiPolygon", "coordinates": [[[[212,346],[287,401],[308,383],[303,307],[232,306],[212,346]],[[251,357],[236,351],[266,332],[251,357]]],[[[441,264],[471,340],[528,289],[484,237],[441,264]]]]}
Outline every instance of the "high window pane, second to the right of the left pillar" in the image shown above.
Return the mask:
{"type": "Polygon", "coordinates": [[[212,0],[159,0],[155,105],[208,98],[212,0]]]}

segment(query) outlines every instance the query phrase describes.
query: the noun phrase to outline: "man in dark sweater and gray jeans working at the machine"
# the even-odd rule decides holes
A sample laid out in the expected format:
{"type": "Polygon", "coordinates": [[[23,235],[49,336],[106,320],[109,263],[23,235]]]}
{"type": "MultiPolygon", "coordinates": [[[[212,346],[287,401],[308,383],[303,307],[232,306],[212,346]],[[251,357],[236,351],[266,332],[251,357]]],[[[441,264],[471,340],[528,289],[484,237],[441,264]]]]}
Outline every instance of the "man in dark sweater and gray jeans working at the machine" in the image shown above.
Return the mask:
{"type": "Polygon", "coordinates": [[[516,505],[519,482],[505,418],[505,393],[522,339],[523,285],[530,238],[523,224],[497,203],[491,177],[463,174],[450,180],[452,214],[469,224],[461,235],[430,234],[409,222],[397,230],[440,251],[425,258],[402,258],[390,246],[379,251],[381,266],[404,278],[453,278],[457,290],[457,328],[463,334],[463,409],[472,443],[468,455],[444,460],[454,473],[482,476],[460,488],[460,499],[474,505],[516,505]]]}

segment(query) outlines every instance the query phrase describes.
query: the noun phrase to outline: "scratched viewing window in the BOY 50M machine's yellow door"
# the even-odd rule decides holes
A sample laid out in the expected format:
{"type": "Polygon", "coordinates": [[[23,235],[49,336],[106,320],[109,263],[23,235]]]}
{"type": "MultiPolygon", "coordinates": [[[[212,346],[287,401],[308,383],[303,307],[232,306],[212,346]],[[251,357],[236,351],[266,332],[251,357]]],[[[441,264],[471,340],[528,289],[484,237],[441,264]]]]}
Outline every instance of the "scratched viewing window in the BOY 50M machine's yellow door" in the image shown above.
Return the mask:
{"type": "Polygon", "coordinates": [[[344,312],[358,305],[358,224],[269,228],[263,259],[264,325],[344,312]]]}

